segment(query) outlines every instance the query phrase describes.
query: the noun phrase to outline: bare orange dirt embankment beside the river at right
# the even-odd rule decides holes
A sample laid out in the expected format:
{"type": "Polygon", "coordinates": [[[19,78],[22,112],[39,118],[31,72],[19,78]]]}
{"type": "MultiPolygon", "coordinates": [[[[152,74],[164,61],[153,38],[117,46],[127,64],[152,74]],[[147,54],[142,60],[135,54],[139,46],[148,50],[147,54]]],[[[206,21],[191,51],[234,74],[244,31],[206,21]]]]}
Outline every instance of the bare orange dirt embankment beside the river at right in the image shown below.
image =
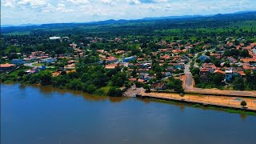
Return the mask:
{"type": "Polygon", "coordinates": [[[190,105],[214,106],[223,109],[243,110],[247,112],[256,112],[256,98],[238,98],[213,95],[192,95],[185,94],[183,98],[179,94],[167,93],[145,93],[144,91],[138,95],[140,98],[157,98],[166,101],[182,102],[190,105]],[[246,108],[242,108],[240,102],[246,101],[246,108]]]}

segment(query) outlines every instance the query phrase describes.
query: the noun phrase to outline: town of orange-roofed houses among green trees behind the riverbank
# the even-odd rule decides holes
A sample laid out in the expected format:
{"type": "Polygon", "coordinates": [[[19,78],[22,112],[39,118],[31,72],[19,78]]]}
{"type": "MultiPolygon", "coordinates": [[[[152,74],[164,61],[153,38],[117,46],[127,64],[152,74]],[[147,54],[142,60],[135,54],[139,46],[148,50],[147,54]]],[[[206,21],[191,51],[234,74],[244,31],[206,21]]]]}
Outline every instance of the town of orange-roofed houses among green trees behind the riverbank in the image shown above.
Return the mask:
{"type": "MultiPolygon", "coordinates": [[[[216,47],[206,42],[182,40],[172,42],[160,40],[155,43],[141,43],[135,38],[130,40],[122,37],[114,39],[86,37],[86,40],[86,44],[72,42],[68,37],[50,37],[47,40],[70,42],[67,48],[69,52],[65,54],[54,54],[49,50],[17,53],[14,50],[9,55],[2,56],[2,62],[6,62],[0,67],[2,82],[14,80],[37,83],[40,82],[40,78],[36,79],[31,75],[39,75],[42,70],[49,72],[52,78],[63,74],[71,76],[75,75],[81,64],[89,64],[102,66],[105,69],[103,71],[106,75],[100,79],[108,79],[105,77],[110,74],[110,82],[106,80],[106,84],[103,84],[100,90],[106,90],[104,87],[110,88],[110,86],[130,88],[134,85],[144,87],[146,90],[174,90],[184,93],[186,75],[190,72],[193,74],[194,86],[198,88],[256,89],[254,75],[256,42],[248,42],[244,38],[226,38],[218,41],[216,47]],[[95,47],[104,45],[116,45],[118,48],[95,50],[95,47]],[[123,47],[124,45],[133,47],[129,50],[127,46],[123,47]],[[146,50],[145,46],[151,46],[152,49],[146,50]],[[14,73],[18,74],[18,77],[15,77],[14,73]],[[114,74],[122,75],[122,79],[116,79],[114,74]]],[[[19,45],[18,39],[10,39],[10,42],[19,45]]],[[[78,79],[72,81],[82,81],[78,79]]],[[[80,88],[70,86],[75,90],[83,90],[82,87],[85,86],[80,88]]],[[[93,94],[96,87],[98,86],[95,86],[95,83],[91,84],[90,88],[93,90],[86,90],[88,89],[86,86],[85,91],[93,94]]],[[[105,92],[98,94],[108,94],[108,91],[105,92]]]]}

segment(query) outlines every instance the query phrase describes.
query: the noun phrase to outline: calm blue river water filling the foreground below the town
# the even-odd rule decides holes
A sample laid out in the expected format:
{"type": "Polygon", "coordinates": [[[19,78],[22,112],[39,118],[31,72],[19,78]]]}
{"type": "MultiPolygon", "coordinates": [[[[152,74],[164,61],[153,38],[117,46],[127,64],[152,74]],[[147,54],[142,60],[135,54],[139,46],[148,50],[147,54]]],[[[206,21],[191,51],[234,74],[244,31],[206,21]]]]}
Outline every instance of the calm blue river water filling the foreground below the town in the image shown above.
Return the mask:
{"type": "Polygon", "coordinates": [[[246,144],[255,136],[255,116],[1,84],[2,144],[246,144]]]}

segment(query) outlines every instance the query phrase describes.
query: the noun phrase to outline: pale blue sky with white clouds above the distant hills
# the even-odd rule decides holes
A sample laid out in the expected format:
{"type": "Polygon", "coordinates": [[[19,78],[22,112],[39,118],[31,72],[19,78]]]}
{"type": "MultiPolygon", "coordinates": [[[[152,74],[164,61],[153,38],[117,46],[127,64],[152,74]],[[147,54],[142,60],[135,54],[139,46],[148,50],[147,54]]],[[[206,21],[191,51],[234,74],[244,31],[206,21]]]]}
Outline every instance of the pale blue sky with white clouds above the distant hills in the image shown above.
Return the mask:
{"type": "Polygon", "coordinates": [[[255,0],[1,0],[1,24],[92,22],[256,10],[255,0]]]}

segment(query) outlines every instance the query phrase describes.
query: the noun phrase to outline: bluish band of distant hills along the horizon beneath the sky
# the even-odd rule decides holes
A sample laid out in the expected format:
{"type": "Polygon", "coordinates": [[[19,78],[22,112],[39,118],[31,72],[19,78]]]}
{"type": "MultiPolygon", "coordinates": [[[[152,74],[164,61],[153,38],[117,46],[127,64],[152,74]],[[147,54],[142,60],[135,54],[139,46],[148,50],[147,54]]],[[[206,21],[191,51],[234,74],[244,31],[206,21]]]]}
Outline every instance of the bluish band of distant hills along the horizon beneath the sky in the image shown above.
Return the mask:
{"type": "MultiPolygon", "coordinates": [[[[247,20],[256,20],[255,11],[241,11],[233,14],[215,14],[215,15],[184,15],[184,16],[170,16],[160,18],[142,18],[137,20],[106,20],[99,22],[81,22],[81,23],[50,23],[42,25],[25,24],[20,26],[2,25],[2,33],[11,33],[16,31],[28,31],[38,28],[42,29],[54,29],[59,28],[66,30],[66,28],[78,29],[78,27],[85,29],[85,26],[97,26],[102,27],[102,30],[106,30],[106,26],[115,27],[113,30],[117,30],[116,27],[122,27],[123,29],[130,29],[131,27],[138,29],[139,27],[147,26],[151,28],[167,29],[167,28],[195,28],[200,26],[226,26],[230,22],[239,22],[247,20]],[[103,28],[104,27],[104,28],[103,28]]],[[[90,27],[92,28],[92,27],[90,27]]],[[[95,27],[94,27],[95,28],[95,27]]],[[[148,29],[150,30],[150,28],[148,29]]]]}

